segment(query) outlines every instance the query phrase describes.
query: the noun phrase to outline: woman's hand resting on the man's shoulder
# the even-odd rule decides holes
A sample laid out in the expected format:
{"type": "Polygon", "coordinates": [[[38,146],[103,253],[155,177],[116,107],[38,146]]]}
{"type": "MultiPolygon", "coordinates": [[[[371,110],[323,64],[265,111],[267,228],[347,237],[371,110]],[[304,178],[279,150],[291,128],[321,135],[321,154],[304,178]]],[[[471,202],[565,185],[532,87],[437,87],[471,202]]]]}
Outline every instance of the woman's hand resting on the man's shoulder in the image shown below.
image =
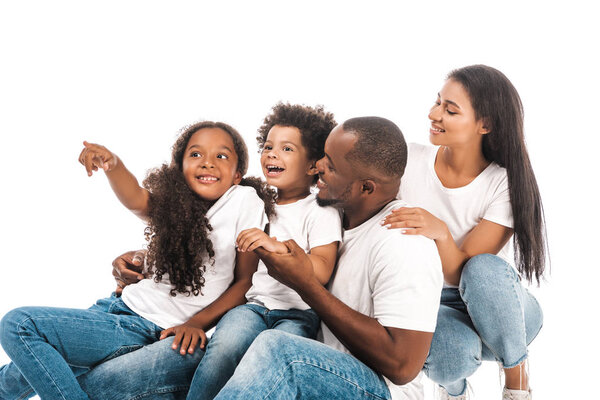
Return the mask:
{"type": "Polygon", "coordinates": [[[429,239],[446,239],[450,236],[444,221],[434,217],[427,210],[417,207],[401,207],[392,210],[383,221],[388,229],[402,229],[405,235],[423,235],[429,239]]]}

